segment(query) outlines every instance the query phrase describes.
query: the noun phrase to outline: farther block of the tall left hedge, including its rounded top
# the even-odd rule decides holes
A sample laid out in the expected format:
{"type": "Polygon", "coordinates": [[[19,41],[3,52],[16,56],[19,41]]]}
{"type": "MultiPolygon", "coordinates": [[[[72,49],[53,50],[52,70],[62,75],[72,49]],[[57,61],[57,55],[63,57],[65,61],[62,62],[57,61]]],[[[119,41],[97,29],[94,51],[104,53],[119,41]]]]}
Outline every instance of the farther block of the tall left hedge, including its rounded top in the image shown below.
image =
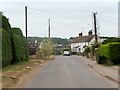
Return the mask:
{"type": "Polygon", "coordinates": [[[24,36],[22,36],[21,30],[19,28],[15,28],[15,29],[12,28],[11,30],[13,30],[13,35],[12,35],[13,60],[12,60],[12,63],[28,60],[29,50],[28,50],[27,40],[25,39],[24,36]]]}

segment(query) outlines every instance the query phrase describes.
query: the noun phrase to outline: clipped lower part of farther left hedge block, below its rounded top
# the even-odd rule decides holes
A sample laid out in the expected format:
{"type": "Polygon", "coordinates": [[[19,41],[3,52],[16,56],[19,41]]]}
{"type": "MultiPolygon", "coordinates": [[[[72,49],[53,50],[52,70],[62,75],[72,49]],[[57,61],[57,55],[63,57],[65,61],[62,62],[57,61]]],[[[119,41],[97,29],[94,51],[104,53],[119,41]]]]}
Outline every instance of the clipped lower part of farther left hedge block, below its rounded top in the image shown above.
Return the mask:
{"type": "Polygon", "coordinates": [[[20,37],[18,35],[13,35],[12,37],[12,44],[13,44],[13,61],[12,63],[15,63],[17,61],[26,61],[28,60],[28,51],[27,47],[25,45],[25,38],[20,37]]]}

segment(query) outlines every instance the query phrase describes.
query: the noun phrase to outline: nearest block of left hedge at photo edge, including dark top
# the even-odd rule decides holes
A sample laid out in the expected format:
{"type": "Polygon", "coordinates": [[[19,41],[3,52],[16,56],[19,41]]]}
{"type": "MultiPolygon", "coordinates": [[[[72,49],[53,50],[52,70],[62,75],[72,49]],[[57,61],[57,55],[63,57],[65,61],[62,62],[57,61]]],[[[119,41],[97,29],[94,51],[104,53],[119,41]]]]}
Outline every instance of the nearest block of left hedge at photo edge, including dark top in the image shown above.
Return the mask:
{"type": "Polygon", "coordinates": [[[0,28],[2,32],[2,67],[11,64],[12,48],[11,48],[11,26],[8,18],[0,12],[0,28]]]}

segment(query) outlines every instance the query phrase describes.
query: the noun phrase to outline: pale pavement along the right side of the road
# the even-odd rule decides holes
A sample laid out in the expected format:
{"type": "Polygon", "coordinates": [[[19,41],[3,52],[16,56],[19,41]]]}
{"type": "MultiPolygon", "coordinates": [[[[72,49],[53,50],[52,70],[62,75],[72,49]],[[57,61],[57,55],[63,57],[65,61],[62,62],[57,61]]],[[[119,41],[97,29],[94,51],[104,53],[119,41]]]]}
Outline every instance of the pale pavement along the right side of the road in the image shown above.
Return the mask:
{"type": "Polygon", "coordinates": [[[118,83],[118,66],[103,66],[86,57],[79,56],[79,58],[99,74],[118,83]]]}

